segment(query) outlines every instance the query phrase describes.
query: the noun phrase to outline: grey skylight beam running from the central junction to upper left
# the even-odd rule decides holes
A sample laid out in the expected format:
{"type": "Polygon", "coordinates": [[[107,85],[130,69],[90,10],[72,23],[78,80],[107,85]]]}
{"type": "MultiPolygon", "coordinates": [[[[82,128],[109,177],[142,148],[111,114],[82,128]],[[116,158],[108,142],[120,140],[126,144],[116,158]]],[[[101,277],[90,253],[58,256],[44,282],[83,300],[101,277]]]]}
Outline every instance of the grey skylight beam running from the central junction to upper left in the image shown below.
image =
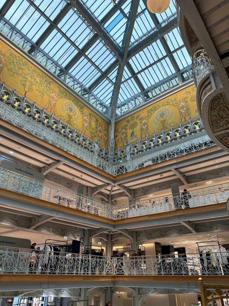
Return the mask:
{"type": "Polygon", "coordinates": [[[111,51],[115,54],[115,56],[118,58],[118,60],[121,60],[122,58],[122,50],[118,46],[118,44],[115,43],[115,40],[111,38],[111,36],[108,34],[108,32],[105,32],[104,27],[102,26],[101,22],[95,19],[93,17],[93,13],[90,12],[89,8],[83,4],[80,0],[69,0],[74,8],[82,15],[83,18],[89,23],[89,25],[96,31],[96,33],[99,35],[101,40],[107,44],[107,46],[111,49],[111,51]]]}

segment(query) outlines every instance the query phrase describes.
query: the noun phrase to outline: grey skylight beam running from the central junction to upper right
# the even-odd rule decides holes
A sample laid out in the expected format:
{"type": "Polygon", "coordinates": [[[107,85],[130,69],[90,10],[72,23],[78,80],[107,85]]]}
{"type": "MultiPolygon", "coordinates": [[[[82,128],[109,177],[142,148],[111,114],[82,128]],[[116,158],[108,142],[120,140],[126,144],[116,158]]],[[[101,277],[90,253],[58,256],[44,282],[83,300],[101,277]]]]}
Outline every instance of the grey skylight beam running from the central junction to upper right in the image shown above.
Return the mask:
{"type": "Polygon", "coordinates": [[[127,56],[128,60],[177,27],[178,27],[178,21],[177,17],[175,17],[172,20],[170,20],[167,24],[162,26],[162,28],[149,34],[145,39],[142,39],[139,43],[137,43],[135,46],[130,48],[127,56]]]}

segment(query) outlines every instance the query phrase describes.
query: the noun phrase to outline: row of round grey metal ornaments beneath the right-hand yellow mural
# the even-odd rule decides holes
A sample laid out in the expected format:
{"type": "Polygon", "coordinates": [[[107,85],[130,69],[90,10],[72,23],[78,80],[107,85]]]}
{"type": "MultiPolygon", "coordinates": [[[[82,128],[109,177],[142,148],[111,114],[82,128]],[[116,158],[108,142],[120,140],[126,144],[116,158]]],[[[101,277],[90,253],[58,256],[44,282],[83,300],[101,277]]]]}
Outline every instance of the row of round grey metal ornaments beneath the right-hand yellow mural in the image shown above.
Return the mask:
{"type": "Polygon", "coordinates": [[[152,137],[139,139],[136,143],[132,144],[130,148],[118,148],[114,152],[114,162],[119,160],[126,160],[129,150],[129,155],[132,159],[137,154],[150,152],[154,148],[165,146],[166,144],[174,143],[177,140],[184,139],[185,137],[204,132],[204,127],[200,118],[189,120],[187,123],[180,123],[179,126],[171,127],[168,131],[162,131],[159,134],[154,134],[152,137]]]}

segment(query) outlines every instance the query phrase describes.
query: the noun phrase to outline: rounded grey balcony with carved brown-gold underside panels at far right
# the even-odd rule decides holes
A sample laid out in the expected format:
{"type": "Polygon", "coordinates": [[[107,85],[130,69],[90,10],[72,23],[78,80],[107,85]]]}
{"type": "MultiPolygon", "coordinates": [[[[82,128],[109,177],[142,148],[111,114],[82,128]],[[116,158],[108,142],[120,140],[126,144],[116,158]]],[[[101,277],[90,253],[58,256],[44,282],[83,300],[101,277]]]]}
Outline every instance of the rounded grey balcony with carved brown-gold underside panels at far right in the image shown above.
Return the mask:
{"type": "Polygon", "coordinates": [[[222,63],[215,61],[213,65],[207,52],[198,43],[193,52],[192,69],[197,107],[204,129],[215,144],[229,152],[228,92],[218,76],[223,71],[222,63]]]}

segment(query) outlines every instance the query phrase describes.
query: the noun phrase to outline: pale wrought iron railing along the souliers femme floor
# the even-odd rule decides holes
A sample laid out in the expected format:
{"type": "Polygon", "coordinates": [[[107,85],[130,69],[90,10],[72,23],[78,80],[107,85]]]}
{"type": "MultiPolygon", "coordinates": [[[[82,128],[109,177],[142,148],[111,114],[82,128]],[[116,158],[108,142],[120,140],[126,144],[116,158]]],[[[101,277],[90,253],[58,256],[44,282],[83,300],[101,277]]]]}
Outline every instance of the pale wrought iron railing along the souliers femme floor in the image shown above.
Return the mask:
{"type": "Polygon", "coordinates": [[[174,211],[187,207],[198,207],[226,202],[229,197],[229,183],[190,192],[191,199],[185,203],[182,195],[158,197],[151,200],[113,206],[89,197],[79,195],[55,185],[31,179],[12,170],[0,167],[0,188],[12,190],[27,196],[75,208],[93,215],[118,220],[142,215],[174,211]]]}

